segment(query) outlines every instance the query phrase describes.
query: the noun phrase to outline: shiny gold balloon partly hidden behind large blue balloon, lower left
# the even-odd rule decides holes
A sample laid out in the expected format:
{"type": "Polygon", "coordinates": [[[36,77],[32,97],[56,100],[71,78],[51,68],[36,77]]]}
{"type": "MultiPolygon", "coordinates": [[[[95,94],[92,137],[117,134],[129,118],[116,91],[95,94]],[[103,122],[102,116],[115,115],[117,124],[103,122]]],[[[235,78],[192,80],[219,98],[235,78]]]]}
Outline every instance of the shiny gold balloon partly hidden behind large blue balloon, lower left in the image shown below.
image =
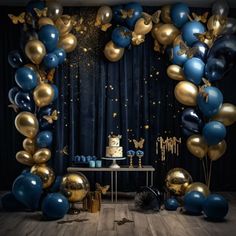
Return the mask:
{"type": "Polygon", "coordinates": [[[38,175],[41,178],[44,189],[49,188],[55,180],[55,174],[53,170],[45,164],[37,164],[32,166],[30,172],[32,174],[38,175]]]}

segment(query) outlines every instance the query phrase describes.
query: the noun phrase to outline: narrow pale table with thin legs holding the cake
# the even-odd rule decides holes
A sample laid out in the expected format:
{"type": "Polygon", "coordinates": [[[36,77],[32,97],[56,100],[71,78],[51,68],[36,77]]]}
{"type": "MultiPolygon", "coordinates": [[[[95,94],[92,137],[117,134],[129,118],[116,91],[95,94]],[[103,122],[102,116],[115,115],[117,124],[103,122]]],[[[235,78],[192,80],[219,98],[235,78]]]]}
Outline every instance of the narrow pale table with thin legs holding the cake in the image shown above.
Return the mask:
{"type": "Polygon", "coordinates": [[[129,168],[128,166],[121,166],[121,168],[88,168],[88,167],[68,167],[68,172],[110,172],[111,173],[111,201],[114,202],[114,179],[115,179],[115,202],[117,202],[117,182],[118,175],[117,172],[146,172],[146,186],[149,186],[149,172],[150,172],[150,185],[153,186],[153,166],[143,166],[142,168],[133,167],[129,168]],[[114,178],[115,176],[115,178],[114,178]]]}

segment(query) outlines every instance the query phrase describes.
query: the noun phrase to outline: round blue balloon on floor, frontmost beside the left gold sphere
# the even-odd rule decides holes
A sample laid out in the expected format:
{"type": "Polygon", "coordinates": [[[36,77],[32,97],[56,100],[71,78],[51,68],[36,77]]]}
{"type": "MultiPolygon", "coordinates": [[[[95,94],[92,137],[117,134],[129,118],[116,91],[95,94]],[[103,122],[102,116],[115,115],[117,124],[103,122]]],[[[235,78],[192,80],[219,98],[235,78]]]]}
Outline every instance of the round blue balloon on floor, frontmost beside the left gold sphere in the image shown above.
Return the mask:
{"type": "Polygon", "coordinates": [[[43,200],[42,212],[48,220],[61,219],[68,210],[69,202],[61,193],[50,193],[43,200]]]}

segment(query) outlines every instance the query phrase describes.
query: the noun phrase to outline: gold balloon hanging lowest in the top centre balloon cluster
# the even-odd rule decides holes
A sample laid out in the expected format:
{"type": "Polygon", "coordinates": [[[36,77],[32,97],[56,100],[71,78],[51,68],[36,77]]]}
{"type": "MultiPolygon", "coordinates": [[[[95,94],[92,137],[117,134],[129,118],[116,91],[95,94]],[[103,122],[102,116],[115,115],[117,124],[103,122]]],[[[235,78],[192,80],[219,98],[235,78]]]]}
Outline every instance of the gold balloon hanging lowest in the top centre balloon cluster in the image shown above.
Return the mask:
{"type": "Polygon", "coordinates": [[[112,41],[109,41],[104,48],[104,55],[109,61],[115,62],[123,57],[124,51],[124,48],[119,48],[112,41]]]}

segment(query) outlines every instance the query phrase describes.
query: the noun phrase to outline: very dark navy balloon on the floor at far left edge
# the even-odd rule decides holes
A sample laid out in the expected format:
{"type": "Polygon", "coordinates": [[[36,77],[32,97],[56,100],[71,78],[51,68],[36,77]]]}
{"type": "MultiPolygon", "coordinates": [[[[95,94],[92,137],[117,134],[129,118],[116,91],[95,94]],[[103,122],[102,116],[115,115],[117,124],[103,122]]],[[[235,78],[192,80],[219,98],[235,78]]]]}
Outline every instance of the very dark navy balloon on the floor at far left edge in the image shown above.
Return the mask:
{"type": "Polygon", "coordinates": [[[5,211],[25,210],[25,206],[15,198],[12,192],[5,193],[1,197],[1,205],[5,211]]]}

